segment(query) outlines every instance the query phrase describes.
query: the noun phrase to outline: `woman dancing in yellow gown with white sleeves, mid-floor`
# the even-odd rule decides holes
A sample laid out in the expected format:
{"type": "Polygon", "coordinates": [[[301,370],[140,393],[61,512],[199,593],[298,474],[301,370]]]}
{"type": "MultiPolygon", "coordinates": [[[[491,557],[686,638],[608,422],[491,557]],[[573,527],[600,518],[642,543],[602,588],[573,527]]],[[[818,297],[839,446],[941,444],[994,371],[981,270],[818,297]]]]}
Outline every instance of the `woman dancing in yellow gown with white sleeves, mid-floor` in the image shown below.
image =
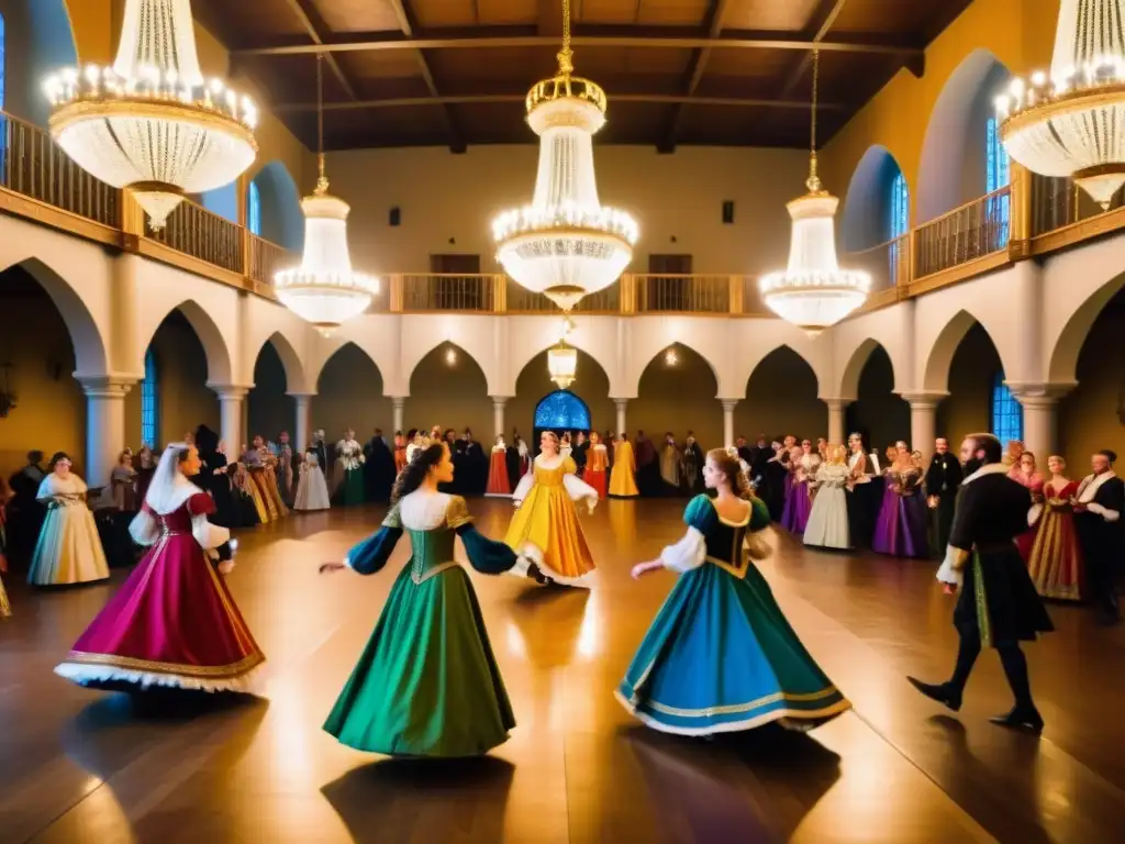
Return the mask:
{"type": "Polygon", "coordinates": [[[583,577],[594,571],[594,558],[574,502],[585,501],[593,512],[597,492],[578,479],[574,460],[559,454],[557,436],[544,431],[539,446],[541,454],[512,494],[519,510],[504,541],[533,559],[556,583],[584,585],[583,577]]]}

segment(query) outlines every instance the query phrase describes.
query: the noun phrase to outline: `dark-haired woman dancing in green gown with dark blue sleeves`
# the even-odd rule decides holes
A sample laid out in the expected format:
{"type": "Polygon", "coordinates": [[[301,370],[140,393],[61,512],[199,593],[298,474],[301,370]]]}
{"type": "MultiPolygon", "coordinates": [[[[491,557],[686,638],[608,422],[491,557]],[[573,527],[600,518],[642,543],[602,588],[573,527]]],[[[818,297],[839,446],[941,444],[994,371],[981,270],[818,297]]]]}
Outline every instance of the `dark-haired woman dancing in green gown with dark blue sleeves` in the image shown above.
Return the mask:
{"type": "Polygon", "coordinates": [[[412,555],[324,729],[359,751],[390,756],[477,756],[507,740],[512,706],[488,644],[480,605],[461,564],[459,536],[484,574],[538,567],[472,527],[465,500],[438,492],[453,479],[449,448],[417,449],[398,476],[390,512],[375,536],[322,572],[375,574],[403,532],[412,555]]]}

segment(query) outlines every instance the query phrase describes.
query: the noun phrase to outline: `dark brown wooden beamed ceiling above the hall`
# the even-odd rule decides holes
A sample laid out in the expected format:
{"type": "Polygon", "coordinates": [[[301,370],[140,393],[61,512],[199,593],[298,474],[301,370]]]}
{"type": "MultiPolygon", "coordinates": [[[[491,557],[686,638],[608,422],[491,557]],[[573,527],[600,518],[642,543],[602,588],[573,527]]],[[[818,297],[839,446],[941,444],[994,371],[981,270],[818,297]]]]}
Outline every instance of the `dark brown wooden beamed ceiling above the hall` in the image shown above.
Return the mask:
{"type": "MultiPolygon", "coordinates": [[[[820,140],[971,0],[572,0],[575,71],[609,95],[600,143],[804,146],[812,48],[820,140]]],[[[192,0],[200,23],[310,147],[529,143],[528,89],[555,72],[561,0],[192,0]]]]}

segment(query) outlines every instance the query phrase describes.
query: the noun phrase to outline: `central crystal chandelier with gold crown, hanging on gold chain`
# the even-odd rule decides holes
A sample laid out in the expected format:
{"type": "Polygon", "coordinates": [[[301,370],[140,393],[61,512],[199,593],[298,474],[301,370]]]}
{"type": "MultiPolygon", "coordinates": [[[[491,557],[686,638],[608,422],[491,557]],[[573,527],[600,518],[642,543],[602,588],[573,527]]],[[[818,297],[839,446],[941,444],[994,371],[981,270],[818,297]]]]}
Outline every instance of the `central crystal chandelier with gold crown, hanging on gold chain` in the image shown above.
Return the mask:
{"type": "Polygon", "coordinates": [[[632,260],[637,223],[597,198],[594,133],[605,125],[605,91],[574,77],[570,3],[562,0],[558,73],[528,93],[528,124],[539,135],[531,205],[493,221],[496,260],[520,285],[570,311],[609,287],[632,260]]]}

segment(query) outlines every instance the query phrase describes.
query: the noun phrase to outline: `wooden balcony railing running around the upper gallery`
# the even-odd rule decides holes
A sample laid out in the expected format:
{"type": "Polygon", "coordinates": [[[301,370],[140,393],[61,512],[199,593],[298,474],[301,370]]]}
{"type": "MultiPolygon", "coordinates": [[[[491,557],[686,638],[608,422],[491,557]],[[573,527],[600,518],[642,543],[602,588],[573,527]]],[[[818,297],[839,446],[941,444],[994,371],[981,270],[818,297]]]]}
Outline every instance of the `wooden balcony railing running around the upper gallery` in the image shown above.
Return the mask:
{"type": "MultiPolygon", "coordinates": [[[[924,223],[900,237],[842,257],[872,275],[867,307],[881,307],[955,284],[1006,263],[1125,230],[1120,191],[1108,212],[1065,179],[1012,165],[1012,185],[924,223]]],[[[128,191],[74,164],[51,134],[0,111],[0,209],[117,246],[189,272],[272,296],[277,270],[299,262],[276,243],[184,200],[168,226],[151,232],[128,191]]],[[[394,273],[372,312],[551,314],[556,305],[503,275],[394,273]]],[[[716,273],[624,273],[585,297],[579,314],[768,315],[755,277],[716,273]]]]}

